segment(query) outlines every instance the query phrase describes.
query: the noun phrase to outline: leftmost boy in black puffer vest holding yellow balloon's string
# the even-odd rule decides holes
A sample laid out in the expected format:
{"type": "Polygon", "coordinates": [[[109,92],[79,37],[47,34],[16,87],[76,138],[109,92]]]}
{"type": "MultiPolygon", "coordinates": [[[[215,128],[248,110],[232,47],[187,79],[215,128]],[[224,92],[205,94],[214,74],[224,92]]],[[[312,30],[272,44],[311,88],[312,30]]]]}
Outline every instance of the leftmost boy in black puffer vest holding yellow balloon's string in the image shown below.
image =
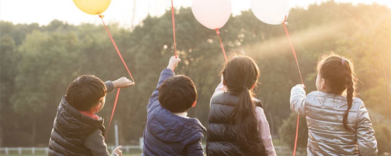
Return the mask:
{"type": "MultiPolygon", "coordinates": [[[[103,134],[103,118],[95,115],[114,88],[134,85],[128,78],[103,82],[93,75],[73,80],[66,89],[54,118],[49,156],[109,156],[103,134]]],[[[111,156],[122,156],[118,146],[111,156]]]]}

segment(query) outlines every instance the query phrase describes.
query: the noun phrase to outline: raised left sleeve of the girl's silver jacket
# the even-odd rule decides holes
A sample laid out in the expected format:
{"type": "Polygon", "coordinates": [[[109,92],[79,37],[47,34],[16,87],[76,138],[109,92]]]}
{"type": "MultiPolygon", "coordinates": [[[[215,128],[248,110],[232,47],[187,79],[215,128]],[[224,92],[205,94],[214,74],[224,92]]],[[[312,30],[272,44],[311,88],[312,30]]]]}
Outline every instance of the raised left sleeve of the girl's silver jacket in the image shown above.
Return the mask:
{"type": "Polygon", "coordinates": [[[290,91],[290,110],[298,115],[305,116],[305,91],[300,85],[292,87],[290,91]]]}

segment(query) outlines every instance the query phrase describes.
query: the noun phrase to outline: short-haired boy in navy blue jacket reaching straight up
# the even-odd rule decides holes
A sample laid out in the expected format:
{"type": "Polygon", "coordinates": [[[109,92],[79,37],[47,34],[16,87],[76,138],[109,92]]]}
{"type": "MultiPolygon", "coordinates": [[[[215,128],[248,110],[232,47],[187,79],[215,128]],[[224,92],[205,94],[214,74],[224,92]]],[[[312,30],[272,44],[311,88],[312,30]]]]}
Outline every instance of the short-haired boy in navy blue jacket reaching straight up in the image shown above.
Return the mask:
{"type": "Polygon", "coordinates": [[[201,139],[206,129],[186,113],[195,106],[197,91],[190,78],[174,76],[178,62],[171,57],[149,100],[143,156],[204,156],[201,139]]]}

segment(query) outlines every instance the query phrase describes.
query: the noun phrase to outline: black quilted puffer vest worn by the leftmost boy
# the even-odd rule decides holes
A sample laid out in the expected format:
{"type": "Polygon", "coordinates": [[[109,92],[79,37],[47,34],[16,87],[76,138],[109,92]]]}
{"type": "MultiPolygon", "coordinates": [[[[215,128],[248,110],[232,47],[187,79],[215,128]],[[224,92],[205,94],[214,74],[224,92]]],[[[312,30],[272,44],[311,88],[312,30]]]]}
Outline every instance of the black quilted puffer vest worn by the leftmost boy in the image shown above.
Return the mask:
{"type": "Polygon", "coordinates": [[[84,146],[84,141],[97,129],[105,133],[103,118],[83,116],[63,97],[53,122],[49,156],[92,156],[91,151],[84,146]]]}

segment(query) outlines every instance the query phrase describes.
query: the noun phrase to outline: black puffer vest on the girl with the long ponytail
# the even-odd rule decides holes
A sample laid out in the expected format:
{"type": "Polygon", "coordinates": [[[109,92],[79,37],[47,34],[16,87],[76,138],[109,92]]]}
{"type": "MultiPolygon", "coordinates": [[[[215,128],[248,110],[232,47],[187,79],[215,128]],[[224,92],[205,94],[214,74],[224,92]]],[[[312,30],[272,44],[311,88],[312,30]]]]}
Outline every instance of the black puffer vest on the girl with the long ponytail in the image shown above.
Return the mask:
{"type": "MultiPolygon", "coordinates": [[[[253,101],[263,108],[261,100],[253,98],[253,101]]],[[[206,140],[207,156],[245,156],[236,143],[236,126],[227,127],[225,124],[238,103],[239,97],[227,92],[216,93],[211,98],[206,140]]]]}

